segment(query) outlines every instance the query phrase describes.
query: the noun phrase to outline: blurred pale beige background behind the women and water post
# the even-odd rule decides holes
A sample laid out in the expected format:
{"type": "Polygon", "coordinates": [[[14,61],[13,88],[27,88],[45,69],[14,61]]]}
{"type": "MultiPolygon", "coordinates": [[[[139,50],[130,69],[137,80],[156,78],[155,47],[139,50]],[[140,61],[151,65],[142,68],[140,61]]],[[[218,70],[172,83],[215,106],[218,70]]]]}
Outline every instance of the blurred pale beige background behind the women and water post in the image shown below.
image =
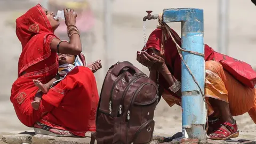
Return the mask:
{"type": "MultiPolygon", "coordinates": [[[[12,83],[17,78],[21,53],[21,44],[15,34],[15,19],[37,3],[55,14],[64,7],[77,12],[76,23],[81,31],[87,62],[102,60],[103,68],[95,73],[99,92],[107,69],[117,61],[130,61],[148,74],[148,69],[136,61],[136,51],[140,51],[144,43],[142,18],[147,15],[146,10],[159,14],[163,9],[169,8],[203,9],[205,43],[214,50],[256,67],[256,19],[253,17],[256,6],[250,0],[232,0],[229,3],[225,3],[225,0],[0,0],[0,131],[31,130],[23,126],[15,115],[10,102],[10,92],[12,83]],[[219,30],[220,23],[224,29],[219,30]]],[[[157,20],[146,21],[145,25],[148,37],[156,28],[157,20]]],[[[170,26],[180,34],[180,23],[170,23],[170,26]]],[[[64,21],[61,21],[55,34],[62,39],[68,38],[64,21]]],[[[256,125],[247,114],[236,119],[241,131],[255,130],[256,125]]],[[[155,130],[158,132],[173,134],[181,131],[181,108],[170,108],[161,100],[155,112],[155,121],[155,130]]]]}

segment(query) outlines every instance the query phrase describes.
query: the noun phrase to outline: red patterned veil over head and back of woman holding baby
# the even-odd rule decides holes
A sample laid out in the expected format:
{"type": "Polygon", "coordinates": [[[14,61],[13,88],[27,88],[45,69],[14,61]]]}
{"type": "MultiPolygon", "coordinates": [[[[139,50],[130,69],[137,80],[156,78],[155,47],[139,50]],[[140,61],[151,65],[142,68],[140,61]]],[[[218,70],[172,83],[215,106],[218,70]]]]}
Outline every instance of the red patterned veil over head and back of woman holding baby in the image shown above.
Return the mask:
{"type": "Polygon", "coordinates": [[[16,20],[16,34],[22,45],[18,66],[20,76],[28,67],[51,55],[50,43],[56,36],[39,4],[16,20]]]}

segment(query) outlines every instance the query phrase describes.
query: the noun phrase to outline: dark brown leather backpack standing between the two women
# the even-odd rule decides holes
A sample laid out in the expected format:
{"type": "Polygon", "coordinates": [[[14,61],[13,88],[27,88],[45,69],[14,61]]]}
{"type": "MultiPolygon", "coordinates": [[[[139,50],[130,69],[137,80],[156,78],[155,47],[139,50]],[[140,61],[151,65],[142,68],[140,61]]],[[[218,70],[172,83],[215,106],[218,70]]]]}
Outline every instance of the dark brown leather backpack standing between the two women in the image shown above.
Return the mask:
{"type": "Polygon", "coordinates": [[[117,62],[103,82],[91,143],[150,143],[157,103],[155,82],[130,62],[117,62]]]}

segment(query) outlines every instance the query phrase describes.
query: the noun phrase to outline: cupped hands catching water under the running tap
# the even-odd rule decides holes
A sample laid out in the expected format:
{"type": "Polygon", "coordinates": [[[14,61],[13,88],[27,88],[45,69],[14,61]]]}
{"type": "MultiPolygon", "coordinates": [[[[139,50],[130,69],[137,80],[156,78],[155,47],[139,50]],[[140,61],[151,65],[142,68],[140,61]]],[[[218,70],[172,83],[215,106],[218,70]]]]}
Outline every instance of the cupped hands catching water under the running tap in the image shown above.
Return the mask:
{"type": "Polygon", "coordinates": [[[166,67],[164,59],[155,53],[150,55],[145,51],[137,51],[137,61],[152,70],[160,71],[166,67]]]}

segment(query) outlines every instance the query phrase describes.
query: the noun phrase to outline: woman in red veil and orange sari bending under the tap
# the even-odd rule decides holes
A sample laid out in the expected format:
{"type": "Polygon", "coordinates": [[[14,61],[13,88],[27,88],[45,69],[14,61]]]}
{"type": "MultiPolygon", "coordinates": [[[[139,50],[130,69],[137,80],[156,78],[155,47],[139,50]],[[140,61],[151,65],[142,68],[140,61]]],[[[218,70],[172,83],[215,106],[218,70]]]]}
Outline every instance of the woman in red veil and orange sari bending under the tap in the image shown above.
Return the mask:
{"type": "MultiPolygon", "coordinates": [[[[172,38],[162,39],[162,33],[163,28],[157,28],[150,34],[142,52],[137,52],[137,60],[149,68],[150,78],[158,82],[159,95],[169,106],[181,106],[181,58],[172,38]]],[[[181,46],[179,35],[172,29],[171,33],[181,46]]],[[[211,47],[205,44],[204,49],[205,102],[209,116],[207,133],[215,140],[238,137],[233,116],[248,112],[256,123],[255,89],[238,82],[219,62],[214,61],[214,50],[211,47]]]]}

